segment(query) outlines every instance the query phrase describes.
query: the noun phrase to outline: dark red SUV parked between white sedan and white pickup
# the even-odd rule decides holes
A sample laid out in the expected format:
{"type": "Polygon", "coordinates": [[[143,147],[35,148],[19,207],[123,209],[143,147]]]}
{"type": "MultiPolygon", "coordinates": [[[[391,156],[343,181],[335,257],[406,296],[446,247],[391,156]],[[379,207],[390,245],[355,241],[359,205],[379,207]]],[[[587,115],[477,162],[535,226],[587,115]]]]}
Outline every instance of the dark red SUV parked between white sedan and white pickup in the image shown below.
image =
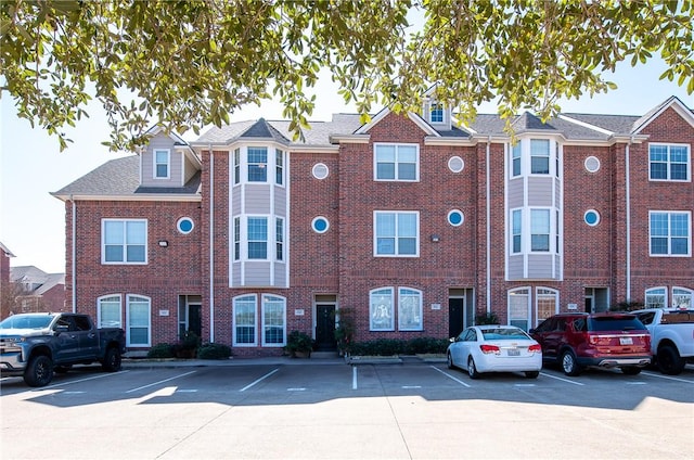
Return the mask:
{"type": "Polygon", "coordinates": [[[542,360],[561,365],[566,375],[589,366],[635,375],[651,363],[651,335],[631,314],[555,315],[530,335],[542,346],[542,360]]]}

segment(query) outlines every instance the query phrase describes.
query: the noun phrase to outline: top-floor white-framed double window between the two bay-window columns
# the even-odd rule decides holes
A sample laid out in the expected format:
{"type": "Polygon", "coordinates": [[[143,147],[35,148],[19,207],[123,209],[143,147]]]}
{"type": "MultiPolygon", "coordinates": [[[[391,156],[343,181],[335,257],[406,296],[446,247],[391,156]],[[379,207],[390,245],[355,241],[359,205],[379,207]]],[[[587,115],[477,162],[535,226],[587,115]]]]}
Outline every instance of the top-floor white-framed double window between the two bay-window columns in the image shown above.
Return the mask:
{"type": "Polygon", "coordinates": [[[417,144],[374,144],[375,180],[414,182],[420,179],[417,144]]]}

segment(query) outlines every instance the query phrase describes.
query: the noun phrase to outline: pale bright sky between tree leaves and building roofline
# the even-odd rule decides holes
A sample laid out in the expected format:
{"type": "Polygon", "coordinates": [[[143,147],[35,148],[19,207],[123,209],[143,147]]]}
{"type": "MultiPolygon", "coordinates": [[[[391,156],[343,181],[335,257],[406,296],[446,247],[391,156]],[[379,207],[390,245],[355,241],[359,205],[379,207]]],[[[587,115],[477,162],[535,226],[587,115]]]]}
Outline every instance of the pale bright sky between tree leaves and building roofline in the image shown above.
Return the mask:
{"type": "MultiPolygon", "coordinates": [[[[657,60],[633,68],[622,64],[608,75],[617,90],[594,99],[564,101],[562,111],[643,115],[670,95],[694,107],[694,95],[687,95],[684,88],[658,80],[664,68],[657,60]]],[[[355,112],[354,106],[344,105],[330,78],[322,78],[316,92],[318,107],[311,119],[329,120],[333,113],[355,112]]],[[[108,140],[105,115],[99,105],[88,110],[90,118],[65,130],[75,142],[60,152],[54,138],[15,116],[13,101],[4,97],[0,105],[0,242],[15,255],[12,267],[33,265],[47,272],[64,272],[65,208],[50,192],[118,156],[101,145],[108,140]]],[[[479,112],[494,113],[496,107],[489,104],[479,112]]],[[[280,105],[269,101],[260,108],[244,108],[232,120],[281,119],[281,113],[280,105]]],[[[190,141],[195,136],[191,132],[184,138],[190,141]]]]}

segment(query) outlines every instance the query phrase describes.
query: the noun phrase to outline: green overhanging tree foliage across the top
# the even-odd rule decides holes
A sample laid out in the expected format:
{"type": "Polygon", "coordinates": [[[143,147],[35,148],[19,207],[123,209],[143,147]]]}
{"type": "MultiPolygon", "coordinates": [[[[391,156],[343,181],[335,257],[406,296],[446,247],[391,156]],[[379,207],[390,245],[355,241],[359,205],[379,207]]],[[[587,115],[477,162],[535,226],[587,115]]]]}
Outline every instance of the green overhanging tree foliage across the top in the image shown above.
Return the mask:
{"type": "Polygon", "coordinates": [[[694,91],[694,5],[681,1],[360,0],[0,2],[0,97],[56,135],[95,97],[112,149],[152,123],[185,132],[278,97],[298,132],[321,68],[360,113],[416,110],[434,82],[463,120],[606,91],[601,73],[659,54],[660,78],[694,91]],[[423,16],[415,30],[410,18],[423,16]]]}

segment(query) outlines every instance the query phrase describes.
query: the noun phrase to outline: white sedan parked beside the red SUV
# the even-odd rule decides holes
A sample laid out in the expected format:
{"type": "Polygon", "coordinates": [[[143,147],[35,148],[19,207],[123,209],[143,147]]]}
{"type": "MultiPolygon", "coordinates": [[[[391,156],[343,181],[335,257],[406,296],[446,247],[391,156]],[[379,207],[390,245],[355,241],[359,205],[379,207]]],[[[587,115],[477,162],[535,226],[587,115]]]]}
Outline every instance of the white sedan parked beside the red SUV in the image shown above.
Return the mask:
{"type": "Polygon", "coordinates": [[[542,369],[542,347],[515,325],[472,325],[451,338],[446,357],[450,369],[465,369],[471,379],[485,372],[525,372],[537,379],[542,369]]]}

